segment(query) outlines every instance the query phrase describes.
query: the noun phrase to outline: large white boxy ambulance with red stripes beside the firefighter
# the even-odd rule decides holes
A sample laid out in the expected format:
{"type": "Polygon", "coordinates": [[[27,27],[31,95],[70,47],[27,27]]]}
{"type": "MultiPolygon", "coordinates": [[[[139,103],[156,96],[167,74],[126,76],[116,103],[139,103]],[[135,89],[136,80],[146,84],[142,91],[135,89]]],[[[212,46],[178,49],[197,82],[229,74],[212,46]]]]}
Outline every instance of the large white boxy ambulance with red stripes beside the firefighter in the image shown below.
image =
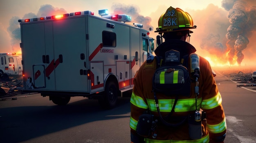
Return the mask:
{"type": "Polygon", "coordinates": [[[54,104],[70,97],[97,99],[113,108],[132,90],[140,65],[154,50],[154,39],[126,14],[99,10],[18,20],[21,28],[23,93],[41,93],[54,104]]]}

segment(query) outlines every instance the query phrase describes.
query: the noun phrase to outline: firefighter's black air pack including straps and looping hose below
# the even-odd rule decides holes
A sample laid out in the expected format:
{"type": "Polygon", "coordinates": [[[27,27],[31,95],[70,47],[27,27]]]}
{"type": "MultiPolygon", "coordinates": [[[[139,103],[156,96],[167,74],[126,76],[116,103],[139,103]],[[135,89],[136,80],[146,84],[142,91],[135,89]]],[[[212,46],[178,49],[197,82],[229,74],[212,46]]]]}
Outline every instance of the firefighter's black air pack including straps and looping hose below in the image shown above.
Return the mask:
{"type": "MultiPolygon", "coordinates": [[[[155,70],[155,74],[153,76],[153,93],[155,98],[155,104],[157,107],[157,112],[159,118],[162,123],[166,126],[177,127],[187,121],[188,116],[180,117],[178,119],[178,123],[171,124],[170,120],[173,119],[171,117],[174,112],[175,106],[177,104],[177,100],[180,96],[190,96],[191,92],[191,78],[189,74],[189,70],[187,69],[190,58],[190,66],[191,68],[198,67],[199,68],[199,56],[195,53],[191,53],[189,55],[185,55],[180,59],[180,52],[176,50],[170,50],[165,52],[165,57],[155,56],[157,60],[157,67],[155,70]],[[193,57],[194,56],[194,57],[193,57]],[[193,57],[193,58],[192,58],[193,57]],[[163,59],[163,60],[161,60],[163,59]],[[164,64],[162,64],[164,61],[164,64]],[[174,96],[175,101],[173,102],[173,106],[171,112],[163,117],[161,115],[159,105],[158,105],[158,93],[163,93],[167,96],[174,96]]],[[[194,75],[195,72],[191,70],[191,74],[194,75]]],[[[198,69],[199,72],[199,69],[198,69]]],[[[196,108],[196,107],[195,107],[196,108]]],[[[176,118],[175,118],[176,119],[176,118]]]]}

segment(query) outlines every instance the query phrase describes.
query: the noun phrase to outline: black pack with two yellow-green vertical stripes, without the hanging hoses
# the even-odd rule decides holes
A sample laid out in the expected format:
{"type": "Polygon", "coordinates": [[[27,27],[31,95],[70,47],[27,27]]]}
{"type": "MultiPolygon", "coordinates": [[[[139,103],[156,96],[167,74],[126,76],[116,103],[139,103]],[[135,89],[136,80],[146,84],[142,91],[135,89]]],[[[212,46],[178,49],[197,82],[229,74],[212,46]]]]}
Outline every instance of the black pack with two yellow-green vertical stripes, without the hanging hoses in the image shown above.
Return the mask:
{"type": "MultiPolygon", "coordinates": [[[[188,57],[189,55],[183,58],[185,65],[188,63],[188,57]]],[[[176,50],[165,53],[164,65],[160,64],[153,76],[153,92],[164,93],[165,95],[190,96],[189,71],[187,67],[181,64],[180,60],[180,52],[176,50]]]]}

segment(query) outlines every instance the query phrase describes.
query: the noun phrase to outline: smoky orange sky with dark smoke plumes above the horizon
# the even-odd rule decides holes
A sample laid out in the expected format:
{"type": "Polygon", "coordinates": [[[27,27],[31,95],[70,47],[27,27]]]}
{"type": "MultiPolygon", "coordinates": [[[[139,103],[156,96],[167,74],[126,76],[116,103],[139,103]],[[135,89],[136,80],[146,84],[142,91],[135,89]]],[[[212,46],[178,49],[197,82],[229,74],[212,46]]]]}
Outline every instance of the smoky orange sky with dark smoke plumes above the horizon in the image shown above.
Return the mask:
{"type": "Polygon", "coordinates": [[[99,16],[98,10],[108,9],[152,28],[150,37],[155,38],[158,19],[169,6],[191,15],[197,28],[190,43],[212,66],[256,65],[255,0],[0,0],[0,53],[21,53],[19,19],[87,10],[99,16]]]}

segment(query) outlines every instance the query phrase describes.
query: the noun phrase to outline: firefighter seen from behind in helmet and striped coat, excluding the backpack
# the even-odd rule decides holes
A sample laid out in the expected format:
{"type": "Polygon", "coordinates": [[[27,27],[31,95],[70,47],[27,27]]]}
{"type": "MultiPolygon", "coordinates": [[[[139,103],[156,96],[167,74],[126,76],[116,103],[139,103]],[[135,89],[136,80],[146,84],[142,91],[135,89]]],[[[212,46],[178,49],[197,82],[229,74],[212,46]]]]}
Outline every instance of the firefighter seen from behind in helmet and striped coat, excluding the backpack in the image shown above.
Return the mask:
{"type": "MultiPolygon", "coordinates": [[[[169,7],[160,16],[155,31],[165,40],[155,49],[156,56],[165,56],[169,50],[179,51],[180,57],[194,53],[196,50],[189,43],[194,28],[188,13],[169,7]]],[[[131,143],[224,143],[226,119],[222,98],[209,62],[201,56],[198,58],[197,77],[192,75],[195,71],[191,71],[191,59],[187,60],[191,88],[182,90],[189,91],[189,96],[177,97],[163,93],[154,95],[152,79],[159,60],[148,56],[133,81],[131,143]]]]}

